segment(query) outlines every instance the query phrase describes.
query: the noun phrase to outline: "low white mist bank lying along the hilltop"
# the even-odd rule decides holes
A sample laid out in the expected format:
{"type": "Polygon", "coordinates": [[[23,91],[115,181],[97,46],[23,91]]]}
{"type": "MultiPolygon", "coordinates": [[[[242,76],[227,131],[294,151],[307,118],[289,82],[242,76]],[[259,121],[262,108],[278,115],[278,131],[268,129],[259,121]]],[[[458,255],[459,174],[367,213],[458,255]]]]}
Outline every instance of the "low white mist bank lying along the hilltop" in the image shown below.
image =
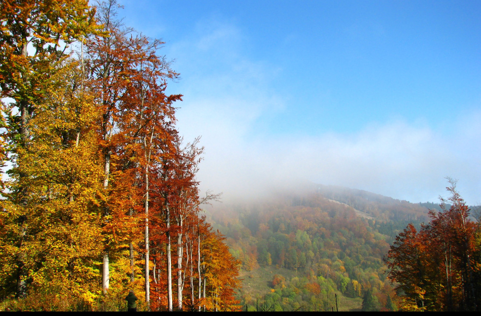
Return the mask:
{"type": "MultiPolygon", "coordinates": [[[[184,113],[184,122],[202,117],[202,108],[190,110],[194,113],[184,113]]],[[[444,177],[451,176],[473,205],[481,188],[479,118],[460,119],[465,126],[453,124],[450,135],[395,121],[350,135],[249,138],[232,117],[202,117],[205,125],[196,131],[203,135],[205,160],[198,179],[202,190],[223,192],[224,200],[318,183],[419,202],[437,201],[445,194],[444,177]]]]}

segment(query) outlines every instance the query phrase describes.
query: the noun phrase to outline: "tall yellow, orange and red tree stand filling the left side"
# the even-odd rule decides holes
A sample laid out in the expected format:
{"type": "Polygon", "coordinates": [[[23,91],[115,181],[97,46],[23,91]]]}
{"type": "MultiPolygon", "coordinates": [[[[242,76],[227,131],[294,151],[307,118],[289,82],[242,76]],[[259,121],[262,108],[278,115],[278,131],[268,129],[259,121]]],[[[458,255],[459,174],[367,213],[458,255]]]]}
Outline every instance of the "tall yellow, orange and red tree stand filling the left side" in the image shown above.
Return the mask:
{"type": "Polygon", "coordinates": [[[199,214],[203,148],[165,94],[178,74],[118,8],[0,4],[2,304],[123,310],[134,289],[144,309],[236,309],[239,263],[199,214]]]}

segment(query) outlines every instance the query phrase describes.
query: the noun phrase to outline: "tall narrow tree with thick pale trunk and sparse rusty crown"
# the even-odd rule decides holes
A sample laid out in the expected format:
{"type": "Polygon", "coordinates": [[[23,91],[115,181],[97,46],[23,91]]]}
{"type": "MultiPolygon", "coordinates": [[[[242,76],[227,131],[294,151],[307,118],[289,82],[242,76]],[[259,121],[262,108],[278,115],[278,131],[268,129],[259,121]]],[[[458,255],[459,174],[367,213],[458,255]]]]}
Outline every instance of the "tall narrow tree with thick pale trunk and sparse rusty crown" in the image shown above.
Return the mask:
{"type": "MultiPolygon", "coordinates": [[[[121,21],[115,19],[118,8],[116,1],[101,2],[98,5],[96,19],[102,25],[104,36],[93,36],[86,41],[86,54],[88,56],[87,71],[89,74],[89,86],[95,94],[95,103],[101,108],[98,131],[100,134],[100,146],[103,154],[103,236],[104,249],[102,254],[102,289],[107,292],[110,283],[109,253],[112,239],[112,221],[109,218],[112,211],[109,207],[109,181],[111,176],[111,158],[115,144],[112,137],[115,136],[115,114],[118,111],[118,103],[126,93],[129,76],[129,62],[132,59],[132,46],[127,36],[132,32],[125,28],[121,21]],[[125,57],[125,58],[123,58],[125,57]]],[[[135,48],[135,43],[133,44],[135,48]]],[[[134,57],[135,58],[135,57],[134,57]]]]}

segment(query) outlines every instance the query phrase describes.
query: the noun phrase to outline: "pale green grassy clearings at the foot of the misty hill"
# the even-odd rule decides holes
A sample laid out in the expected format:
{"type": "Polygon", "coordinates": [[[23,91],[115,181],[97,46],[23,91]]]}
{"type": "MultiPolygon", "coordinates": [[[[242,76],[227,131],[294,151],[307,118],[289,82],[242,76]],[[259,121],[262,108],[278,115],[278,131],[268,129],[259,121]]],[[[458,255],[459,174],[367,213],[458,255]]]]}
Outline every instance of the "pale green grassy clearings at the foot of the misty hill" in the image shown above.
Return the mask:
{"type": "MultiPolygon", "coordinates": [[[[272,279],[278,274],[286,279],[296,276],[296,271],[289,269],[276,269],[275,267],[258,267],[252,271],[241,270],[239,278],[242,279],[242,292],[249,293],[251,298],[262,301],[264,296],[271,291],[272,279]]],[[[300,276],[300,275],[299,275],[300,276]]],[[[338,307],[340,312],[361,311],[362,299],[360,297],[350,298],[338,293],[338,307]]]]}

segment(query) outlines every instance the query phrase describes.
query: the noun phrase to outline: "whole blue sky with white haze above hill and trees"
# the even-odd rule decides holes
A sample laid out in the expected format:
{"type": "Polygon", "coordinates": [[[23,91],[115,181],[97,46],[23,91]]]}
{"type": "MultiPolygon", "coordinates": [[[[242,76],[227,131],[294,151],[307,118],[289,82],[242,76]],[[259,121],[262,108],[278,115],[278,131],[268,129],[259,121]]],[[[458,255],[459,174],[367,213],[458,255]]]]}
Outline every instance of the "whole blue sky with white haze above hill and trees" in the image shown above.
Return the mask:
{"type": "Polygon", "coordinates": [[[121,1],[181,73],[202,189],[481,202],[481,1],[121,1]]]}

